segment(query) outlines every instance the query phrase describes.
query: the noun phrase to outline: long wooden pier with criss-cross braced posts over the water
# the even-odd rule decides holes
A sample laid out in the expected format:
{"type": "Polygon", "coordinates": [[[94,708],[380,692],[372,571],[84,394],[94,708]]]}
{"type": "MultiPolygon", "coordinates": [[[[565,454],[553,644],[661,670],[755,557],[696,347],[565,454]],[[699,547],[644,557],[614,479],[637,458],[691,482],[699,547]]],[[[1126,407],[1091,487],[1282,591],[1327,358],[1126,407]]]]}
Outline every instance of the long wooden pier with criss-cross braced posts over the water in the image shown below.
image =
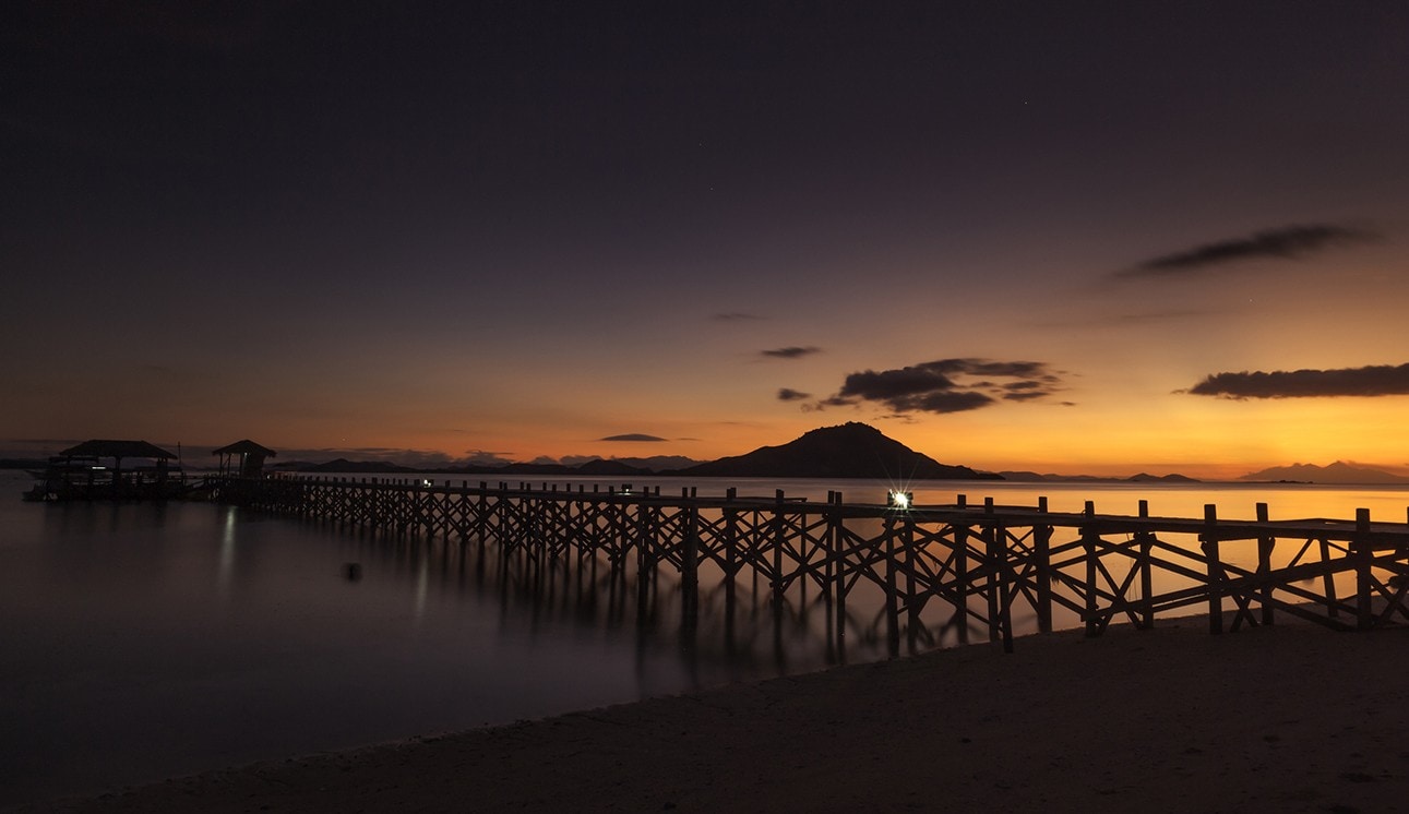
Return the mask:
{"type": "MultiPolygon", "coordinates": [[[[228,480],[220,499],[461,546],[497,546],[523,568],[566,583],[634,584],[641,608],[662,583],[682,628],[735,594],[762,591],[779,613],[824,608],[828,646],[847,637],[899,652],[967,642],[975,632],[1012,648],[1014,632],[1112,621],[1137,627],[1206,614],[1210,632],[1288,614],[1367,630],[1409,620],[1409,524],[1354,520],[1254,521],[1054,513],[969,504],[898,508],[651,490],[426,480],[228,480]]],[[[506,561],[509,562],[509,561],[506,561]]],[[[810,614],[813,620],[819,614],[810,614]]]]}

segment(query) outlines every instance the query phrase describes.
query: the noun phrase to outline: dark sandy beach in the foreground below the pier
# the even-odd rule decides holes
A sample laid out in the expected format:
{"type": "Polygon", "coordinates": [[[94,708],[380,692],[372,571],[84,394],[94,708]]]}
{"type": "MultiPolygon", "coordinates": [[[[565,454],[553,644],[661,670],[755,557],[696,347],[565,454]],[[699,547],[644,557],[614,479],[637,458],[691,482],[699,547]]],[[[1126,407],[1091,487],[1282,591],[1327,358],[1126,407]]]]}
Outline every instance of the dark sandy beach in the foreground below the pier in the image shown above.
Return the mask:
{"type": "Polygon", "coordinates": [[[25,811],[1409,808],[1409,630],[938,651],[25,811]]]}

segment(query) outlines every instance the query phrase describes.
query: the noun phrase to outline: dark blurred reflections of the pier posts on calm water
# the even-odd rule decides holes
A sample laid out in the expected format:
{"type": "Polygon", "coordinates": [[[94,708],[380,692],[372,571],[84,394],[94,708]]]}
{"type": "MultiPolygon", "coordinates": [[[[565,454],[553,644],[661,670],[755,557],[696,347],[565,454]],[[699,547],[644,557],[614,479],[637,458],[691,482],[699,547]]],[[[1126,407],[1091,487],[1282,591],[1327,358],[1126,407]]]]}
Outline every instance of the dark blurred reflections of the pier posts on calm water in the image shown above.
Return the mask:
{"type": "MultiPolygon", "coordinates": [[[[338,528],[338,534],[344,541],[340,556],[359,563],[364,580],[395,579],[406,586],[417,620],[433,594],[464,601],[493,597],[502,631],[523,628],[530,641],[540,631],[561,628],[628,635],[638,666],[648,656],[674,653],[692,684],[888,653],[878,630],[881,591],[874,586],[858,584],[848,596],[854,635],[843,648],[833,597],[806,582],[775,596],[755,572],[727,579],[719,568],[704,566],[696,610],[686,613],[681,575],[666,565],[638,572],[634,563],[613,566],[606,556],[581,551],[550,556],[527,546],[362,528],[338,528]]],[[[923,642],[937,644],[952,642],[923,642]]]]}

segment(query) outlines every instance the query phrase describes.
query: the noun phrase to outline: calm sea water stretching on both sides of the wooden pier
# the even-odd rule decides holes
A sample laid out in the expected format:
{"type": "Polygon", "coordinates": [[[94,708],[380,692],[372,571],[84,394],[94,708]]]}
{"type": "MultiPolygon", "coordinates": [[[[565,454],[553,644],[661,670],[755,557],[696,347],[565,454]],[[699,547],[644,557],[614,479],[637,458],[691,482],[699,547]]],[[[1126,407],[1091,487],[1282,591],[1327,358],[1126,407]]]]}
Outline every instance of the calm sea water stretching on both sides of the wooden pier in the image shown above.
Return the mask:
{"type": "MultiPolygon", "coordinates": [[[[702,494],[728,484],[740,494],[783,489],[813,500],[840,489],[857,503],[881,503],[890,486],[634,486],[654,484],[676,494],[682,484],[702,494]]],[[[528,590],[476,559],[473,546],[200,503],[30,504],[20,501],[27,486],[24,473],[0,472],[0,806],[834,660],[806,624],[781,632],[754,608],[727,638],[702,620],[699,637],[686,641],[669,614],[638,617],[634,597],[528,590]]],[[[971,503],[1036,504],[1045,496],[1053,510],[1079,511],[1093,500],[1112,514],[1134,514],[1146,499],[1151,514],[1184,517],[1202,517],[1215,503],[1220,517],[1251,518],[1262,501],[1274,520],[1353,518],[1365,507],[1374,520],[1402,522],[1409,506],[1403,487],[909,489],[919,503],[962,493],[971,503]]],[[[883,652],[858,642],[847,656],[883,652]]]]}

